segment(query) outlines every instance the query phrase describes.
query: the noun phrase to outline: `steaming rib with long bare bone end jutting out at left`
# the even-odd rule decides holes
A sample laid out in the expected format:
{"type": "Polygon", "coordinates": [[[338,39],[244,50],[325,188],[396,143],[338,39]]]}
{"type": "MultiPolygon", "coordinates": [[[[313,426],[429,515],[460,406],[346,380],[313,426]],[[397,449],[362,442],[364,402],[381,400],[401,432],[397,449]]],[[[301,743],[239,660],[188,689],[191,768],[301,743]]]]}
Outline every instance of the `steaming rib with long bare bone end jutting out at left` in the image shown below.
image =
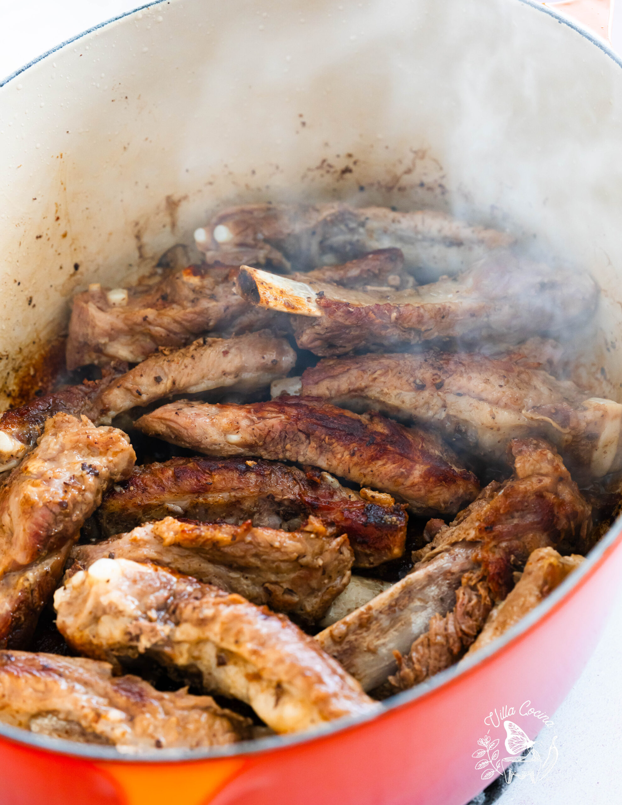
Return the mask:
{"type": "Polygon", "coordinates": [[[296,342],[316,355],[408,349],[432,340],[517,344],[570,332],[594,315],[598,288],[587,274],[511,254],[484,259],[455,279],[405,291],[301,282],[242,266],[237,287],[249,302],[298,314],[296,342]]]}

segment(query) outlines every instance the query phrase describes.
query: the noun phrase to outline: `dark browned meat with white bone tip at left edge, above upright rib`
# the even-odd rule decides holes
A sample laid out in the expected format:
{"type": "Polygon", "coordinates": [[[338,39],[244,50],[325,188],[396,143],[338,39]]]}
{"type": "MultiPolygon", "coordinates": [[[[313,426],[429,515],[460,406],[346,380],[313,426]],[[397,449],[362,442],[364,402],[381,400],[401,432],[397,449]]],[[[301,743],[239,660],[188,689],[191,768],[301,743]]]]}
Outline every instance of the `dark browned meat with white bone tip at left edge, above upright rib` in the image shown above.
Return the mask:
{"type": "Polygon", "coordinates": [[[13,469],[27,452],[31,452],[43,433],[46,419],[59,411],[84,413],[119,374],[120,371],[109,369],[101,380],[85,380],[80,386],[43,394],[43,397],[35,397],[19,408],[4,411],[0,417],[0,472],[13,469]]]}

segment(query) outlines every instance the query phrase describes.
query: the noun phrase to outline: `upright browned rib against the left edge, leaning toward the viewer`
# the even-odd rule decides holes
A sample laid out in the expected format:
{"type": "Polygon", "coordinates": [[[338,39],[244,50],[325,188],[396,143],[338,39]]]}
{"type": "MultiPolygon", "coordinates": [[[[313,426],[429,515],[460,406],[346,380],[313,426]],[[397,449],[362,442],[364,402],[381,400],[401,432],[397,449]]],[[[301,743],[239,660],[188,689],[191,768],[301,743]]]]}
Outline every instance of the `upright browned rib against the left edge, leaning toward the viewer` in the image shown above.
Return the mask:
{"type": "Polygon", "coordinates": [[[0,648],[30,638],[84,520],[134,450],[122,431],[56,414],[0,489],[0,648]]]}

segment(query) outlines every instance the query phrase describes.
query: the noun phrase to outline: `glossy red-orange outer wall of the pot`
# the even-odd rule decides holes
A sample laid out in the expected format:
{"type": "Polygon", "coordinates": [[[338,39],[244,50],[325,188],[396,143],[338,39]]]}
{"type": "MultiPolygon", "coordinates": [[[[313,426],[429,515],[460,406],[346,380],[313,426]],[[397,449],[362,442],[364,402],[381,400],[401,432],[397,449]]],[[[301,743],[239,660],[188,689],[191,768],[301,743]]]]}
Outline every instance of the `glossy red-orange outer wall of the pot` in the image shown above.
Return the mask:
{"type": "Polygon", "coordinates": [[[0,803],[464,805],[484,785],[471,754],[486,732],[484,717],[508,701],[558,708],[595,647],[621,574],[619,531],[566,597],[484,662],[375,720],[300,745],[246,757],[132,763],[0,741],[0,803]]]}

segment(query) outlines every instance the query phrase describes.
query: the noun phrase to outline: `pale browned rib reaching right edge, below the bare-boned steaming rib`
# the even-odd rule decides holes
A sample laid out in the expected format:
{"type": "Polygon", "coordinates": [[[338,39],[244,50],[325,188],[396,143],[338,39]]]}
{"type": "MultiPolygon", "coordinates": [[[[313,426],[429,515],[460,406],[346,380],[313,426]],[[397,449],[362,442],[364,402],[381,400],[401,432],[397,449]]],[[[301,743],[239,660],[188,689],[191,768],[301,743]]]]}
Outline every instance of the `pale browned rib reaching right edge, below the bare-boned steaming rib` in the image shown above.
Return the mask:
{"type": "Polygon", "coordinates": [[[622,405],[587,398],[575,383],[525,366],[520,354],[327,358],[304,372],[301,394],[429,424],[487,460],[507,458],[514,438],[543,436],[592,475],[622,468],[622,405]]]}

